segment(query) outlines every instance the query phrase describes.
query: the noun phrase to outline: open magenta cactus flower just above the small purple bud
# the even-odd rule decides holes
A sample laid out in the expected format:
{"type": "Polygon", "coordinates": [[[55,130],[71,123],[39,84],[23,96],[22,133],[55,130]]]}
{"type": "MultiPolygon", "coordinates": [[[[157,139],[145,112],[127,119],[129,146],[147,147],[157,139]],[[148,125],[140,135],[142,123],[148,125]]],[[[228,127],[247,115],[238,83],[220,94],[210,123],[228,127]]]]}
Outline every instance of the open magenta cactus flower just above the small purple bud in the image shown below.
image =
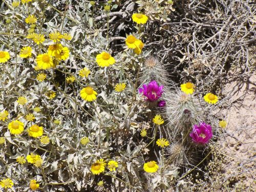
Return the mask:
{"type": "Polygon", "coordinates": [[[148,85],[143,84],[142,88],[139,89],[139,93],[143,93],[146,100],[154,102],[162,96],[163,86],[158,86],[158,83],[153,80],[148,85]]]}

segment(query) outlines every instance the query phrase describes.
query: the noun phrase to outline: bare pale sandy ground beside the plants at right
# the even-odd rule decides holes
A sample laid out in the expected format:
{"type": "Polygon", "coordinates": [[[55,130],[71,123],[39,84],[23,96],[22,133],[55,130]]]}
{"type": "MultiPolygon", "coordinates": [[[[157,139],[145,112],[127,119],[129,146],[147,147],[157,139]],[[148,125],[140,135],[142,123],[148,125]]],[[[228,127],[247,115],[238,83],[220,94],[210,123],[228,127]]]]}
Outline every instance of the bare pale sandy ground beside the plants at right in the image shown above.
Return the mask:
{"type": "MultiPolygon", "coordinates": [[[[254,83],[256,77],[250,78],[254,83]]],[[[233,84],[227,84],[229,90],[233,84]]],[[[225,90],[224,89],[224,90],[225,90]]],[[[255,87],[250,86],[245,97],[245,88],[231,98],[232,103],[229,109],[223,111],[228,122],[226,132],[220,144],[227,156],[224,165],[225,178],[230,180],[230,191],[256,191],[256,109],[255,109],[255,87]],[[237,100],[240,98],[239,100],[237,100]],[[233,182],[233,183],[232,183],[233,182]]]]}

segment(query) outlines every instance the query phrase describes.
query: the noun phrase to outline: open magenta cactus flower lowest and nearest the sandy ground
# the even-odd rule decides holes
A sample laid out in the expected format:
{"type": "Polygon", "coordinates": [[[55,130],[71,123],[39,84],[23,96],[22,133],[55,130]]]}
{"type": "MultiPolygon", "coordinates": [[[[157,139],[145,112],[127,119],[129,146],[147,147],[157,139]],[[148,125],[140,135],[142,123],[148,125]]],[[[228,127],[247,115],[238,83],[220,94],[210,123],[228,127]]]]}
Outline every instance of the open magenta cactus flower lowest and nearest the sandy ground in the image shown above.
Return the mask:
{"type": "Polygon", "coordinates": [[[193,126],[193,131],[189,134],[195,143],[206,144],[212,137],[211,126],[204,122],[193,126]]]}

